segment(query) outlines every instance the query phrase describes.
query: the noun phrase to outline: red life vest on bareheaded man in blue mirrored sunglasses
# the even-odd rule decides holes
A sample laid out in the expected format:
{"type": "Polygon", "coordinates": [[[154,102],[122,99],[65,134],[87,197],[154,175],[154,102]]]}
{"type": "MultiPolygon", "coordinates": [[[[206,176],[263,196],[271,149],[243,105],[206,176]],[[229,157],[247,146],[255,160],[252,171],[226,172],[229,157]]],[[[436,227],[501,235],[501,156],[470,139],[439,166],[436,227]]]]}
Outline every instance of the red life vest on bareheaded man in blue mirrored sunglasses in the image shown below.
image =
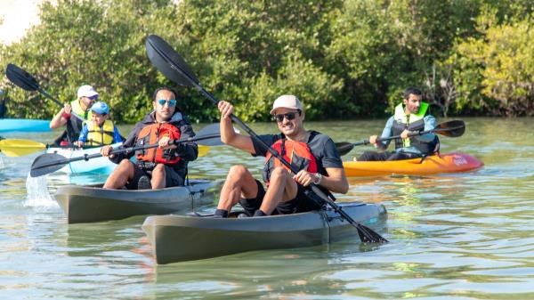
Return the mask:
{"type": "MultiPolygon", "coordinates": [[[[142,127],[139,134],[137,134],[137,146],[151,145],[159,142],[160,138],[165,136],[171,140],[180,139],[180,130],[169,123],[155,123],[149,126],[142,127]]],[[[175,164],[180,161],[174,153],[174,149],[162,150],[161,148],[150,148],[135,151],[135,158],[146,162],[154,162],[161,164],[175,164]]]]}

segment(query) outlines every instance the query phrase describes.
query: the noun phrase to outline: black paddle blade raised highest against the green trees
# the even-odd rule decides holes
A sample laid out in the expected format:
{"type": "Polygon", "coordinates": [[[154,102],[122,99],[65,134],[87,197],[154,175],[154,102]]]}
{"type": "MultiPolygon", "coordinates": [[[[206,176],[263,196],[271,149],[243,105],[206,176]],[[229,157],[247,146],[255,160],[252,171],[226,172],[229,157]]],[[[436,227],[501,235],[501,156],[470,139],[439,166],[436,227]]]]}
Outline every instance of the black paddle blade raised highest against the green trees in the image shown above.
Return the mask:
{"type": "Polygon", "coordinates": [[[152,65],[165,77],[177,85],[190,86],[191,81],[198,85],[198,79],[182,56],[176,53],[167,42],[155,35],[150,35],[145,43],[147,55],[152,65]]]}

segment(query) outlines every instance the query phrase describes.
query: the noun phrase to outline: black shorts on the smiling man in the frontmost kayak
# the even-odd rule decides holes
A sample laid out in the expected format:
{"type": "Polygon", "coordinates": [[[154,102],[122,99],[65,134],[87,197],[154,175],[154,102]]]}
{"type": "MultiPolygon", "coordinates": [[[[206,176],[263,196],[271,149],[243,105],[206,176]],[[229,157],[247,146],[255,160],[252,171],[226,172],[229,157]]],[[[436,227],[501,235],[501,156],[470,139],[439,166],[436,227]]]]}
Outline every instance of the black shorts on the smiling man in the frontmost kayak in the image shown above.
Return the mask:
{"type": "MultiPolygon", "coordinates": [[[[255,182],[258,185],[258,193],[256,194],[256,197],[253,199],[239,200],[239,204],[245,209],[247,215],[254,215],[255,211],[262,206],[263,197],[265,197],[265,189],[263,188],[262,182],[258,180],[255,182]]],[[[279,203],[272,212],[272,215],[303,213],[321,208],[319,203],[309,199],[308,196],[304,194],[305,188],[302,185],[297,184],[297,187],[298,191],[296,191],[295,199],[279,203]]]]}

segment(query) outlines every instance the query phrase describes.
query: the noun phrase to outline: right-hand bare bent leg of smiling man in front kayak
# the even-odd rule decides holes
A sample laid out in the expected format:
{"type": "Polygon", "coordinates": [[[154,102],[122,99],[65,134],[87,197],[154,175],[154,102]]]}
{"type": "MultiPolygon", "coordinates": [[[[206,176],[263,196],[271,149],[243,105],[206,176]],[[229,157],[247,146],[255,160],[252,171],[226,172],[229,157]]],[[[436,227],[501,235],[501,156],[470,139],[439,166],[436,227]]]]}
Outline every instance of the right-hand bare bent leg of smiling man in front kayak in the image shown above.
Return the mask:
{"type": "Polygon", "coordinates": [[[272,170],[269,189],[265,192],[260,209],[266,215],[271,215],[280,202],[295,199],[298,187],[293,175],[279,166],[272,170]]]}

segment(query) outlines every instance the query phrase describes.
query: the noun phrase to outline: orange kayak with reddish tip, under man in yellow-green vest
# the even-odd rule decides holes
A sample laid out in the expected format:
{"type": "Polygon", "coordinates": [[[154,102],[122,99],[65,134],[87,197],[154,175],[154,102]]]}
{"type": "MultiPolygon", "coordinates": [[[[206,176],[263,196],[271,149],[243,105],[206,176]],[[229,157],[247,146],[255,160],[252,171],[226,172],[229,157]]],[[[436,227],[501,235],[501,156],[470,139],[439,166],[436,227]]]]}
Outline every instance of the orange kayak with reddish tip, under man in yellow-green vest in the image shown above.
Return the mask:
{"type": "Polygon", "coordinates": [[[379,176],[390,174],[425,175],[471,171],[484,164],[463,153],[447,153],[421,158],[392,161],[344,161],[348,177],[379,176]]]}

